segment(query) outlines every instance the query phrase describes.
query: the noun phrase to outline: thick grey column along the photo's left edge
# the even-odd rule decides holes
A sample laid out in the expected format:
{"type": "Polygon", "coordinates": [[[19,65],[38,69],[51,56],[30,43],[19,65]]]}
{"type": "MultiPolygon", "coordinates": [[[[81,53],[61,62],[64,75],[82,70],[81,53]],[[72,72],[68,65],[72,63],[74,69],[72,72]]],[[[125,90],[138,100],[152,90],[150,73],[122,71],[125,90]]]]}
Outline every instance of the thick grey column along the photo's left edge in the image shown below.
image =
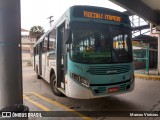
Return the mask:
{"type": "Polygon", "coordinates": [[[20,0],[0,0],[0,110],[23,104],[20,0]]]}

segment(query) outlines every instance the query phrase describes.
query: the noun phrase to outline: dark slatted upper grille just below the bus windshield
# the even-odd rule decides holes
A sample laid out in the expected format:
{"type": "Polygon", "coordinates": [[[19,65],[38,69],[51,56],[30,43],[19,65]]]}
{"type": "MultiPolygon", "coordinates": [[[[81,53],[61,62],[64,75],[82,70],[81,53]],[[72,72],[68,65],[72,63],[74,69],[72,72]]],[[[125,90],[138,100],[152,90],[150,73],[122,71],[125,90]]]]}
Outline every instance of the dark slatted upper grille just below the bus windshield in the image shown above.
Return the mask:
{"type": "Polygon", "coordinates": [[[130,70],[128,65],[115,65],[115,66],[90,66],[86,72],[92,75],[111,75],[125,73],[130,70]]]}

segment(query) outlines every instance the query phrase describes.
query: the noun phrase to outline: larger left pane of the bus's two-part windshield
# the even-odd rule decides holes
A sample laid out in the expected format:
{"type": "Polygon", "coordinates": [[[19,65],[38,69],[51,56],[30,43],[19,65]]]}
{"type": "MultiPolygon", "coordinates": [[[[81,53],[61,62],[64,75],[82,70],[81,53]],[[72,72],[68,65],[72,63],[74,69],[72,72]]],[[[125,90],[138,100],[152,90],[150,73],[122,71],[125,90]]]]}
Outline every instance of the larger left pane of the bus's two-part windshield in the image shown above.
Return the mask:
{"type": "Polygon", "coordinates": [[[107,26],[72,28],[71,60],[79,63],[110,63],[111,46],[107,26]]]}

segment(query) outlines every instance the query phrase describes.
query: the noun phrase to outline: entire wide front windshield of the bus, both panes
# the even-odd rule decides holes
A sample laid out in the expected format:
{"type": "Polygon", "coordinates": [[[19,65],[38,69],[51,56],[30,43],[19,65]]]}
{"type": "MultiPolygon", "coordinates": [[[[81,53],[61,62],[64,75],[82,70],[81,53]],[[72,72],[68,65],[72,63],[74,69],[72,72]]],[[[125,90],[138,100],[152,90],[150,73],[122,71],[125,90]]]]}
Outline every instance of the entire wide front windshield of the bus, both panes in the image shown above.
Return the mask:
{"type": "Polygon", "coordinates": [[[128,31],[106,24],[72,26],[70,58],[86,64],[129,62],[132,48],[128,31]]]}

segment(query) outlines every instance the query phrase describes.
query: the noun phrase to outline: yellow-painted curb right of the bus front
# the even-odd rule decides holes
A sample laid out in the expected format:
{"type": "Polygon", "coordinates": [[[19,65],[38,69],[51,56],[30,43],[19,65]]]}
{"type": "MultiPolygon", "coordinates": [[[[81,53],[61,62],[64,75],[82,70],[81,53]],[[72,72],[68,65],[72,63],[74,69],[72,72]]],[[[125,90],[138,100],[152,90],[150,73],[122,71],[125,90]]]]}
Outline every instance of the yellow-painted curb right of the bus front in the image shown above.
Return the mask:
{"type": "Polygon", "coordinates": [[[160,76],[156,75],[142,75],[142,74],[134,74],[135,78],[146,79],[146,80],[160,80],[160,76]]]}

